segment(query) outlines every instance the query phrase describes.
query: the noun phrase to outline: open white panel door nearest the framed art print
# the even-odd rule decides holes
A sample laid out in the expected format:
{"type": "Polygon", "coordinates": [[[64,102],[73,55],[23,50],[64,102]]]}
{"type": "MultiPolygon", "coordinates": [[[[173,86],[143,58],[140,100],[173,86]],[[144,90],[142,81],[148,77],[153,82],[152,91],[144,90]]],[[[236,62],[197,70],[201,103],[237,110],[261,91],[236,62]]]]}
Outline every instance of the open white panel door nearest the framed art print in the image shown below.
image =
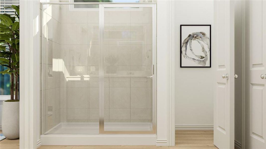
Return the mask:
{"type": "Polygon", "coordinates": [[[214,1],[214,145],[234,148],[234,1],[214,1]]]}

